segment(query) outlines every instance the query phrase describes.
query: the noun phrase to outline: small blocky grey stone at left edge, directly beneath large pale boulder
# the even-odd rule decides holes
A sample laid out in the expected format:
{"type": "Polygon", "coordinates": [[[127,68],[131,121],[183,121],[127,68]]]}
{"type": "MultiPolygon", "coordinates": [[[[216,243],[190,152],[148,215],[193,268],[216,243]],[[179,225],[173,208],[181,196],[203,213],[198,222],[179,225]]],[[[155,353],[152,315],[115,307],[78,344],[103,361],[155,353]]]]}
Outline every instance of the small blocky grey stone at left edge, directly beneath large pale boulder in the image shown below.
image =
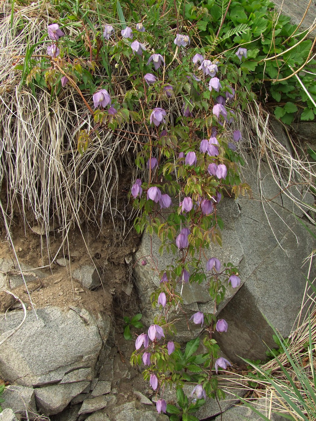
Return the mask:
{"type": "Polygon", "coordinates": [[[5,400],[1,406],[3,409],[11,408],[15,413],[25,414],[35,412],[35,397],[32,387],[11,385],[5,388],[3,394],[5,400]]]}

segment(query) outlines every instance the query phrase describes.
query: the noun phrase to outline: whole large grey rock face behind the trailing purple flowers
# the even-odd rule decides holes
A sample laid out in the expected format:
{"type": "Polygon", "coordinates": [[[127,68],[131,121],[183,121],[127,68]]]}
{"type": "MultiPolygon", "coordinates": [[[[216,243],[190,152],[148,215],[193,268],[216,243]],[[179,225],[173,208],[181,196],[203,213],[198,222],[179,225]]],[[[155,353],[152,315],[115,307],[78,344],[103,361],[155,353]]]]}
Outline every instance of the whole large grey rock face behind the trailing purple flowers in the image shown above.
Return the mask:
{"type": "MultiPolygon", "coordinates": [[[[244,284],[239,290],[228,288],[228,294],[217,308],[218,317],[228,322],[228,332],[217,334],[215,338],[222,351],[233,362],[244,358],[265,359],[266,346],[273,346],[273,330],[270,322],[288,336],[295,318],[300,311],[305,290],[305,277],[308,267],[301,269],[303,260],[313,250],[313,241],[303,226],[297,221],[302,217],[299,209],[294,208],[287,194],[300,196],[309,205],[313,196],[300,193],[289,187],[280,193],[279,187],[270,174],[270,169],[261,163],[260,183],[262,195],[257,188],[257,163],[249,158],[249,166],[243,171],[244,181],[252,187],[253,198],[238,197],[238,200],[224,197],[218,214],[224,221],[222,232],[223,248],[211,245],[207,257],[217,257],[222,262],[232,262],[238,266],[238,273],[244,284]],[[265,317],[264,317],[265,316],[265,317]]],[[[144,236],[136,258],[153,255],[158,259],[158,269],[163,270],[171,264],[173,256],[159,256],[160,242],[153,238],[152,244],[144,236]]],[[[149,261],[149,259],[147,258],[149,261]]],[[[153,323],[153,310],[150,294],[159,286],[159,278],[150,264],[135,266],[137,288],[142,303],[141,312],[147,325],[153,323]]],[[[313,275],[313,274],[312,274],[313,275]]],[[[183,298],[188,317],[193,312],[213,312],[214,303],[208,298],[203,285],[185,285],[183,298]]],[[[198,328],[187,332],[186,322],[177,326],[180,333],[177,340],[188,340],[198,335],[198,328]]]]}

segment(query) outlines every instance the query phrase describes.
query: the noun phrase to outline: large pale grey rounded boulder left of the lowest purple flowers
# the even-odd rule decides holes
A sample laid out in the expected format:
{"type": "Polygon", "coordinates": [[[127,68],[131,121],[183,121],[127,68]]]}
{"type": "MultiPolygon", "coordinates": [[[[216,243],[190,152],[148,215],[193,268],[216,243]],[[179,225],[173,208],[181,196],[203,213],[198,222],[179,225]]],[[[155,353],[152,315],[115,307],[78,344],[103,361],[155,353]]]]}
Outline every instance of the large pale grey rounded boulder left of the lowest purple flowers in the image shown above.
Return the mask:
{"type": "MultiPolygon", "coordinates": [[[[71,371],[94,368],[102,338],[91,314],[75,307],[67,311],[46,307],[37,309],[37,316],[38,320],[33,311],[28,311],[24,324],[5,342],[0,354],[3,378],[23,386],[40,386],[56,383],[71,371]]],[[[19,325],[22,317],[21,311],[7,315],[0,326],[0,340],[19,325]]],[[[103,327],[109,332],[109,319],[103,320],[103,327]]]]}

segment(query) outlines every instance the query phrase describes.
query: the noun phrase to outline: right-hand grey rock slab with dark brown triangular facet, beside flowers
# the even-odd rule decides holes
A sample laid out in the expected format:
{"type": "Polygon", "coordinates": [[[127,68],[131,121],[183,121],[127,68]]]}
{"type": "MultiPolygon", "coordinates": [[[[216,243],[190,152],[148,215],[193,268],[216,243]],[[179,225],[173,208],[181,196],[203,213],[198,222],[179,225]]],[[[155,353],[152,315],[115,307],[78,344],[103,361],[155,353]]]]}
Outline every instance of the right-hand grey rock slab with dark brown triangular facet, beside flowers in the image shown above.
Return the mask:
{"type": "MultiPolygon", "coordinates": [[[[305,290],[308,268],[301,269],[301,264],[314,248],[312,238],[293,216],[292,204],[280,197],[269,168],[262,163],[262,189],[265,197],[272,199],[265,204],[265,215],[252,177],[256,167],[251,164],[252,169],[244,170],[244,176],[252,180],[254,200],[239,197],[241,216],[233,221],[245,254],[238,267],[244,285],[220,312],[219,317],[228,322],[228,332],[214,335],[234,362],[240,362],[237,356],[264,360],[265,344],[274,346],[273,330],[263,315],[284,337],[289,335],[305,290]]],[[[308,195],[305,199],[311,203],[308,195]]],[[[222,205],[230,206],[229,200],[223,200],[222,205]]],[[[311,277],[315,277],[314,269],[311,277]]]]}

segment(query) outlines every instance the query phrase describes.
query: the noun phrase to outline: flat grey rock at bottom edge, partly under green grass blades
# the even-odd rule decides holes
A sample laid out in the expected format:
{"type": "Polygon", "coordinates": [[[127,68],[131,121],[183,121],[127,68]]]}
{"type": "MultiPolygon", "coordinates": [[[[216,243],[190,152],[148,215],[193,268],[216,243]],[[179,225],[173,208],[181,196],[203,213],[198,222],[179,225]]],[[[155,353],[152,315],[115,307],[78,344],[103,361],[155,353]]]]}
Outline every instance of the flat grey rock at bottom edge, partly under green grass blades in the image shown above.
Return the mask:
{"type": "MultiPolygon", "coordinates": [[[[269,411],[262,408],[262,405],[258,404],[258,401],[250,402],[255,409],[259,410],[263,415],[268,417],[269,411]]],[[[267,403],[267,408],[269,408],[269,403],[267,403]]],[[[271,421],[283,421],[284,418],[278,414],[271,413],[269,418],[271,421]]],[[[252,409],[248,408],[246,405],[238,405],[230,408],[222,413],[222,418],[220,416],[215,418],[215,421],[262,421],[262,417],[257,415],[252,409]]]]}

